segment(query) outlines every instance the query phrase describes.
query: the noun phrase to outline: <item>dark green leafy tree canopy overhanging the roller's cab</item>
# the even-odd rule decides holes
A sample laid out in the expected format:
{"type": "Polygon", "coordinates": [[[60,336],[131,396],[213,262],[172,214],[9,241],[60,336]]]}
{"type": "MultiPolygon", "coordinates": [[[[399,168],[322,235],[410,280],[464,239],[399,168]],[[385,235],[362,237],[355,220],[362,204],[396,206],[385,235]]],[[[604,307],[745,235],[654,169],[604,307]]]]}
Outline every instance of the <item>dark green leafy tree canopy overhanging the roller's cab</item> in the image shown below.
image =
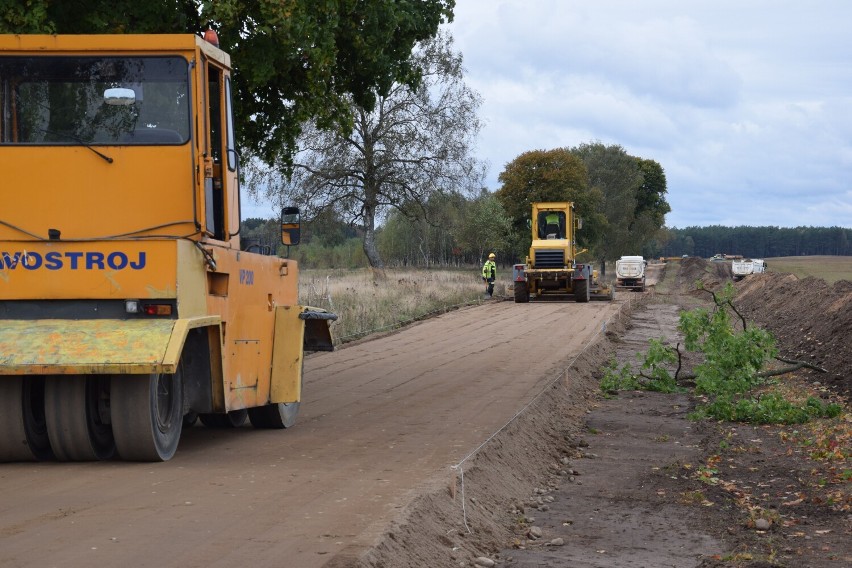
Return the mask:
{"type": "Polygon", "coordinates": [[[292,154],[300,125],[348,130],[350,102],[372,108],[415,86],[414,46],[452,20],[455,0],[0,0],[0,33],[186,33],[212,27],[232,56],[240,146],[292,154]]]}

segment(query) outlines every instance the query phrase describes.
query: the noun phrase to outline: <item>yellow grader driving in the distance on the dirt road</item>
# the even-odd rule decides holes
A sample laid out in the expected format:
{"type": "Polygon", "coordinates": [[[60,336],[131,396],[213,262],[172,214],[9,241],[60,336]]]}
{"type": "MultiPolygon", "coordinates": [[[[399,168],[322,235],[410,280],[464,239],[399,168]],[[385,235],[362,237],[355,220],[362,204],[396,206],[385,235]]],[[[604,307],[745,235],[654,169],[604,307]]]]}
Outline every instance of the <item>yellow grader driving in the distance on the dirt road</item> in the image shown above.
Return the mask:
{"type": "Polygon", "coordinates": [[[524,264],[512,270],[515,302],[530,298],[612,300],[612,286],[602,284],[598,272],[589,263],[578,263],[576,232],[582,220],[571,202],[533,203],[532,244],[524,264]]]}

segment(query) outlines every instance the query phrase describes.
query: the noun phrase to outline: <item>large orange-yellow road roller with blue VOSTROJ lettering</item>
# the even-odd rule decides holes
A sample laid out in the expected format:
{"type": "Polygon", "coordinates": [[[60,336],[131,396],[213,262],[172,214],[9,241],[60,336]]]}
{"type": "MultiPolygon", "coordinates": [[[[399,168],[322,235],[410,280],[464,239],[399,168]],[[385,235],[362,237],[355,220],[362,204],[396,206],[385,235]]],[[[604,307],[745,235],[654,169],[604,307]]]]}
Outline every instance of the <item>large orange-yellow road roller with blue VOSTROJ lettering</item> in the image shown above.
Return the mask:
{"type": "MultiPolygon", "coordinates": [[[[295,262],[241,249],[231,97],[193,34],[0,36],[0,461],[293,425],[336,316],[298,305],[295,262]]],[[[299,228],[285,208],[282,242],[299,228]]]]}

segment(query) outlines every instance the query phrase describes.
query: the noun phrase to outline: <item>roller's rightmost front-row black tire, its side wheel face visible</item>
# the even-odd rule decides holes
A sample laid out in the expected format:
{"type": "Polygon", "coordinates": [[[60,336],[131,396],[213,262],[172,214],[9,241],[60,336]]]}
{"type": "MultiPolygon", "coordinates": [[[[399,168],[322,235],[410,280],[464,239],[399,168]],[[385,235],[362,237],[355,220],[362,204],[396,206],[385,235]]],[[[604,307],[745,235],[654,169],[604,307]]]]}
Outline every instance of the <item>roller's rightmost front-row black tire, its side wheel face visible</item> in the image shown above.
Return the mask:
{"type": "Polygon", "coordinates": [[[111,386],[112,429],[119,455],[130,461],[167,461],[183,430],[183,373],[116,375],[111,386]]]}

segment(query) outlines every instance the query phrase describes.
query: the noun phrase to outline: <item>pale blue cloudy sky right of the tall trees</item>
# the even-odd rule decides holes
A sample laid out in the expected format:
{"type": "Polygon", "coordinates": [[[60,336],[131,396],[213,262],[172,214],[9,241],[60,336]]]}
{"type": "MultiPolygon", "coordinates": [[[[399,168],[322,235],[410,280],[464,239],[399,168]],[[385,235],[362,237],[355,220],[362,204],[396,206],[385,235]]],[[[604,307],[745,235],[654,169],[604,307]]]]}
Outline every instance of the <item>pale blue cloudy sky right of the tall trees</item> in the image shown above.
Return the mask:
{"type": "Polygon", "coordinates": [[[852,227],[849,0],[457,0],[487,185],[519,154],[621,145],[669,227],[852,227]]]}

